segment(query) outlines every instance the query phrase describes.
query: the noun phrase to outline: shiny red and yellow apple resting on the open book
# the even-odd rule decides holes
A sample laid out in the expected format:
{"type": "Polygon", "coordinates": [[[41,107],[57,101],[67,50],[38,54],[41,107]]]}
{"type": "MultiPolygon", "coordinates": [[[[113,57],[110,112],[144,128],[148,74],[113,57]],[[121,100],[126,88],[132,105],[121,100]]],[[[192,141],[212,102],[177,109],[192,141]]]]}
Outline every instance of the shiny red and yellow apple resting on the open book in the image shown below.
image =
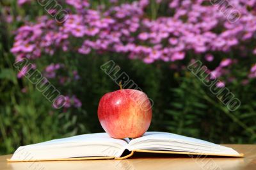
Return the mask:
{"type": "Polygon", "coordinates": [[[150,101],[136,89],[106,93],[99,102],[98,117],[104,130],[116,139],[141,137],[152,119],[150,101]]]}

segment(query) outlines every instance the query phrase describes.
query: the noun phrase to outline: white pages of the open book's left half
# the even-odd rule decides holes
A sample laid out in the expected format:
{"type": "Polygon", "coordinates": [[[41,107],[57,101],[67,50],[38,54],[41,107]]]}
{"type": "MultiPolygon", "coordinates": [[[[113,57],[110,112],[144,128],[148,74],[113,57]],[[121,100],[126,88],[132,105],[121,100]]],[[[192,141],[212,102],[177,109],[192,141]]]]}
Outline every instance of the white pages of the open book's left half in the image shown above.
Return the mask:
{"type": "Polygon", "coordinates": [[[54,139],[44,143],[20,146],[13,154],[11,160],[120,157],[127,147],[128,140],[113,139],[106,133],[77,135],[63,139],[54,139]]]}

